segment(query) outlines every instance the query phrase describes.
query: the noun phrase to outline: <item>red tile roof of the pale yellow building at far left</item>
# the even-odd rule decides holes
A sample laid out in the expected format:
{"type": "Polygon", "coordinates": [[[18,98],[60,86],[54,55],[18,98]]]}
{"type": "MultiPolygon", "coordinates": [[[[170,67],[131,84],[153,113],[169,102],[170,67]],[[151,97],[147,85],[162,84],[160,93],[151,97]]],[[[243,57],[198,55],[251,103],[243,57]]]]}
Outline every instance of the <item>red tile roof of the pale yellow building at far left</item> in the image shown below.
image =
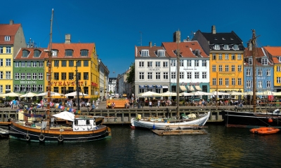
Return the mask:
{"type": "Polygon", "coordinates": [[[13,44],[15,41],[15,34],[20,26],[20,24],[0,24],[0,44],[13,44]],[[5,36],[10,36],[10,41],[5,41],[5,36]]]}

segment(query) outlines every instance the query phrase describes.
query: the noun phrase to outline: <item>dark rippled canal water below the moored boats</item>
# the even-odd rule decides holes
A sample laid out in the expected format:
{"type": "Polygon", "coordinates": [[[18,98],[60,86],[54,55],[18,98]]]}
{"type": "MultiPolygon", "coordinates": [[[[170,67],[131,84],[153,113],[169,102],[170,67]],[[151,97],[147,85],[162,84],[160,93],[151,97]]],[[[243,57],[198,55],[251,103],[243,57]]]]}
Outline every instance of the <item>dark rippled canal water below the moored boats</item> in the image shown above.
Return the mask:
{"type": "Polygon", "coordinates": [[[281,133],[207,125],[208,134],[159,137],[111,126],[112,137],[81,144],[0,139],[0,167],[281,167],[281,133]]]}

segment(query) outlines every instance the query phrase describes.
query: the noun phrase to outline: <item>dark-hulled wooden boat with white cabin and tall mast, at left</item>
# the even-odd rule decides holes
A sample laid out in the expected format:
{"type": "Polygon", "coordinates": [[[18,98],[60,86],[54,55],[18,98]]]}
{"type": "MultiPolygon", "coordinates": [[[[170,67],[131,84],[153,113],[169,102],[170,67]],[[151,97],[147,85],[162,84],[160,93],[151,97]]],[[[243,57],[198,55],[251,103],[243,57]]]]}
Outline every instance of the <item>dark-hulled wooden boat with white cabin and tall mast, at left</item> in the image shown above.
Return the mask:
{"type": "MultiPolygon", "coordinates": [[[[52,22],[53,10],[51,17],[51,35],[52,22]]],[[[48,62],[52,62],[51,39],[52,36],[50,36],[49,50],[46,50],[46,52],[48,52],[48,62]]],[[[105,125],[96,125],[96,118],[103,117],[75,116],[73,113],[70,113],[68,111],[63,111],[61,113],[51,115],[51,69],[51,64],[48,64],[48,103],[46,108],[46,116],[43,116],[41,122],[38,123],[28,123],[26,121],[11,120],[11,125],[9,127],[9,137],[13,139],[20,139],[23,141],[37,142],[94,141],[110,137],[111,132],[109,127],[105,125]],[[53,118],[60,118],[70,121],[70,125],[55,125],[53,123],[53,118]]],[[[76,72],[78,72],[77,67],[76,72]]],[[[79,97],[78,78],[76,80],[76,85],[77,97],[79,97]]]]}

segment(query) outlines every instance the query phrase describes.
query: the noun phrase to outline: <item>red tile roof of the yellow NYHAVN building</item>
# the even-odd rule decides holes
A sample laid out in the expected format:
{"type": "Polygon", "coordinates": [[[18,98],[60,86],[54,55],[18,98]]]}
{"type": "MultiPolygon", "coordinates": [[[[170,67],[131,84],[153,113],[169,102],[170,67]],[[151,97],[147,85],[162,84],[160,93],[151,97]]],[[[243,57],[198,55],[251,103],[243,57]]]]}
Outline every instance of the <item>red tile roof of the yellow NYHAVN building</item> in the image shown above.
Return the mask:
{"type": "MultiPolygon", "coordinates": [[[[50,48],[50,46],[48,46],[50,48]]],[[[52,50],[58,50],[58,56],[53,59],[91,58],[95,43],[52,43],[52,50]],[[65,50],[73,50],[73,56],[65,56],[65,50]],[[88,56],[80,56],[80,50],[89,50],[88,56]]],[[[48,58],[46,52],[45,58],[48,58]]]]}

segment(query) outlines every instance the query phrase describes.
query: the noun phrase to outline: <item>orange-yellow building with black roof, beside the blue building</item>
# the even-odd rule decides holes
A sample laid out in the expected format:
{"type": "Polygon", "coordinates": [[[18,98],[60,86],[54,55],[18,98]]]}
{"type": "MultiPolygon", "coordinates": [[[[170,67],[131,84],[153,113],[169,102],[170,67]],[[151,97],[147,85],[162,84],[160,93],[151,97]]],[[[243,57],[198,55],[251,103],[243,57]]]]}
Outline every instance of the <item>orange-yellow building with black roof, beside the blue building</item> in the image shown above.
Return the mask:
{"type": "Polygon", "coordinates": [[[199,30],[193,39],[210,57],[210,92],[243,92],[244,46],[237,34],[217,33],[212,26],[211,33],[199,30]]]}

